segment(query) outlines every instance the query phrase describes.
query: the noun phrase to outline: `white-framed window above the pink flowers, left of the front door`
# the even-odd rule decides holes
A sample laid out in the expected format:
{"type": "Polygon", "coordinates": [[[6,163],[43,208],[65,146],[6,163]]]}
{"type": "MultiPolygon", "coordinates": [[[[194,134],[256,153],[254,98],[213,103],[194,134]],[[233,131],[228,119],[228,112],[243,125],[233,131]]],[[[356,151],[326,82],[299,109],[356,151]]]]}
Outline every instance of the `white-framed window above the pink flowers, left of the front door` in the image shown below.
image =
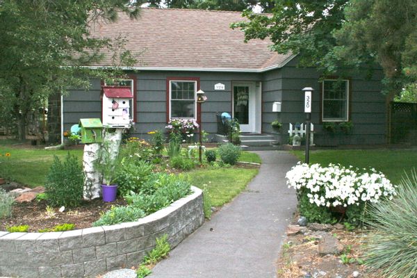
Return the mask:
{"type": "Polygon", "coordinates": [[[197,81],[170,81],[170,119],[196,118],[197,81]]]}

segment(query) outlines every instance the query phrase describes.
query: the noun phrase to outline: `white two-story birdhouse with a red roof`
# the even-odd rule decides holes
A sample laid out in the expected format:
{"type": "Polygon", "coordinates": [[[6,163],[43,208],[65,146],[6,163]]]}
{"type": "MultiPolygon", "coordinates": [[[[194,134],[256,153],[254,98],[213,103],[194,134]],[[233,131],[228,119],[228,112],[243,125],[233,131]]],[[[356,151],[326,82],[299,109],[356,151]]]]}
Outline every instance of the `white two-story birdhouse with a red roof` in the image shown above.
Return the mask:
{"type": "Polygon", "coordinates": [[[133,94],[130,87],[103,87],[103,126],[129,128],[130,101],[133,94]]]}

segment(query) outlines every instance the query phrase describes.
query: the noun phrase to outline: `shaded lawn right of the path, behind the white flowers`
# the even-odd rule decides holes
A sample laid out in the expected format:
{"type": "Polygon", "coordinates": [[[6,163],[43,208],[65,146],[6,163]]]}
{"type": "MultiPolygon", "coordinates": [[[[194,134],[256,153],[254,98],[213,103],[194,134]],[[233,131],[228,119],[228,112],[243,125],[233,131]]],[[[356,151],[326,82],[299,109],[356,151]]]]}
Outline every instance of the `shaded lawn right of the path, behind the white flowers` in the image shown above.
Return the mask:
{"type": "MultiPolygon", "coordinates": [[[[293,152],[304,161],[304,151],[293,152]]],[[[310,153],[310,163],[339,163],[343,166],[374,167],[383,172],[392,183],[399,183],[404,172],[417,166],[417,149],[349,149],[318,150],[310,153]]]]}

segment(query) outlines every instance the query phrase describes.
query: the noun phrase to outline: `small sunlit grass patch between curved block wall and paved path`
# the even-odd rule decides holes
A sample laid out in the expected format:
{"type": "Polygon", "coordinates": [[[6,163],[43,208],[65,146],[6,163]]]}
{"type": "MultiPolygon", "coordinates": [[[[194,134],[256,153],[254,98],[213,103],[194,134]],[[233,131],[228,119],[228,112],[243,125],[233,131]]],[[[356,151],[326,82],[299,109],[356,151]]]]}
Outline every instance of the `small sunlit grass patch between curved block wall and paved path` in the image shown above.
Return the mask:
{"type": "Polygon", "coordinates": [[[258,169],[230,167],[195,170],[190,172],[190,177],[198,188],[203,188],[204,184],[207,185],[211,206],[222,206],[244,190],[256,174],[258,174],[258,169]]]}

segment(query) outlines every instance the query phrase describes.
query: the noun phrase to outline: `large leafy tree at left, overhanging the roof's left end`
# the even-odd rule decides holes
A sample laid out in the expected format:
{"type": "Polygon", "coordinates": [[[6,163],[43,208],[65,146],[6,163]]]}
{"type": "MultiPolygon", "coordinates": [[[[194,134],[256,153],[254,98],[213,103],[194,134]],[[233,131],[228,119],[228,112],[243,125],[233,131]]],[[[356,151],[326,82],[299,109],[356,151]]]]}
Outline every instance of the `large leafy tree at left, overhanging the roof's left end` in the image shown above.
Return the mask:
{"type": "Polygon", "coordinates": [[[0,1],[0,117],[16,121],[20,140],[26,138],[28,115],[49,95],[74,86],[88,88],[91,76],[115,74],[83,67],[101,60],[104,51],[112,55],[115,68],[133,63],[133,55],[123,48],[124,38],[92,38],[89,31],[99,20],[115,20],[119,11],[136,17],[140,2],[129,3],[0,1]]]}

